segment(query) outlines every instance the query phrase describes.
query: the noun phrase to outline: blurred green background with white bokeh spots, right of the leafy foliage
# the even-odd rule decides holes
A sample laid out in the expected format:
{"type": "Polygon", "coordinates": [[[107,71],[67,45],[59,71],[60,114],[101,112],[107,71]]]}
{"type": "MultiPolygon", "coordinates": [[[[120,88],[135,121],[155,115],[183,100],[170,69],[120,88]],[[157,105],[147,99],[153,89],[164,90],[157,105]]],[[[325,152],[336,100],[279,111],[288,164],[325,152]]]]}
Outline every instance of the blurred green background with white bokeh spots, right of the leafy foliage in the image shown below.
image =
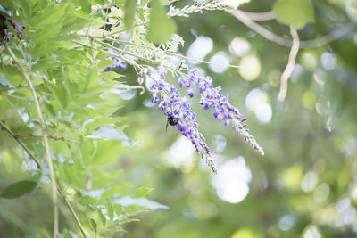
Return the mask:
{"type": "MultiPolygon", "coordinates": [[[[312,1],[315,22],[301,40],[325,36],[351,22],[345,1],[312,1]]],[[[243,4],[271,11],[274,1],[243,4]]],[[[219,169],[213,175],[175,127],[150,107],[150,94],[129,96],[127,135],[140,146],[120,158],[136,184],[154,187],[150,198],[167,206],[125,227],[122,237],[355,237],[357,234],[357,31],[301,49],[278,101],[289,47],[277,45],[226,12],[176,18],[185,40],[181,53],[196,59],[244,65],[228,69],[190,62],[248,118],[265,156],[194,106],[219,169]],[[131,98],[132,97],[132,98],[131,98]],[[133,112],[135,111],[135,112],[133,112]]],[[[290,38],[286,25],[259,22],[290,38]]],[[[195,104],[195,103],[194,103],[195,104]]]]}

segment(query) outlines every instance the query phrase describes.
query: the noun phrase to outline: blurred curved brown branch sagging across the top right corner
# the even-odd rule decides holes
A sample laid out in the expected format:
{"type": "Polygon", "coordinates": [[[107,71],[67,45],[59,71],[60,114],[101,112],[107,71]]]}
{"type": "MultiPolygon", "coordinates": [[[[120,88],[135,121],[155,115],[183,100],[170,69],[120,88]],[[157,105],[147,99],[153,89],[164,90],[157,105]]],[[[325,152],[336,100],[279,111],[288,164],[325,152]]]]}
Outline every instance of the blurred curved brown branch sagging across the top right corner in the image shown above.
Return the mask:
{"type": "MultiPolygon", "coordinates": [[[[241,21],[248,28],[253,29],[256,33],[258,33],[262,37],[265,37],[266,39],[275,42],[278,45],[283,45],[287,47],[293,45],[293,41],[286,39],[284,37],[280,37],[277,34],[271,32],[270,30],[263,28],[261,25],[254,22],[247,14],[245,14],[245,12],[235,10],[235,11],[230,11],[228,13],[235,16],[237,20],[241,21]]],[[[313,48],[313,47],[319,47],[321,45],[326,45],[328,43],[331,43],[336,39],[343,37],[347,32],[353,29],[356,25],[357,22],[351,21],[345,24],[344,27],[336,29],[335,31],[329,33],[326,36],[318,37],[311,40],[300,41],[300,48],[301,49],[313,48]]]]}

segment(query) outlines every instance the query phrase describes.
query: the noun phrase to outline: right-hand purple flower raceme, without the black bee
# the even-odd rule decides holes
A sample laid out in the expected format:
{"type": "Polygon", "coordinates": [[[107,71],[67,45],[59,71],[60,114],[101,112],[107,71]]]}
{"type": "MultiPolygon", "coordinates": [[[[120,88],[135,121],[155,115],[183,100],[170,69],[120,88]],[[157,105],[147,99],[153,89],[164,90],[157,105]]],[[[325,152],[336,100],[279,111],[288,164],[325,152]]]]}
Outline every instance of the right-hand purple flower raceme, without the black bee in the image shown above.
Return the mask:
{"type": "Polygon", "coordinates": [[[199,103],[203,105],[204,110],[213,109],[213,116],[218,121],[224,121],[224,126],[228,127],[232,124],[232,128],[238,131],[238,134],[244,136],[245,141],[253,147],[256,152],[264,154],[262,148],[255,142],[253,135],[249,134],[249,129],[245,128],[247,125],[243,124],[245,118],[231,103],[228,102],[228,95],[221,94],[220,86],[212,86],[212,78],[199,77],[196,70],[189,70],[187,76],[179,78],[179,87],[187,87],[187,95],[190,97],[195,96],[192,85],[198,90],[201,95],[199,103]]]}

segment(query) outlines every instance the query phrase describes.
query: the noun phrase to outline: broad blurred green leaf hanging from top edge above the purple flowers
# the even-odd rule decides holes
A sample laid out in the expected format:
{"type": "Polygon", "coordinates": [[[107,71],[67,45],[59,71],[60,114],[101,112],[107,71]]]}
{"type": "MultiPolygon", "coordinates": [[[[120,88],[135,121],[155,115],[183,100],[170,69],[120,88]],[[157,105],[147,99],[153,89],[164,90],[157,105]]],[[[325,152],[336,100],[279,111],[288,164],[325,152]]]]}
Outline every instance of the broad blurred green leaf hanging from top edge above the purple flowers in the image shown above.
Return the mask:
{"type": "Polygon", "coordinates": [[[160,4],[160,0],[153,0],[146,39],[157,44],[162,44],[170,40],[170,37],[175,32],[176,25],[166,15],[162,4],[160,4]]]}

